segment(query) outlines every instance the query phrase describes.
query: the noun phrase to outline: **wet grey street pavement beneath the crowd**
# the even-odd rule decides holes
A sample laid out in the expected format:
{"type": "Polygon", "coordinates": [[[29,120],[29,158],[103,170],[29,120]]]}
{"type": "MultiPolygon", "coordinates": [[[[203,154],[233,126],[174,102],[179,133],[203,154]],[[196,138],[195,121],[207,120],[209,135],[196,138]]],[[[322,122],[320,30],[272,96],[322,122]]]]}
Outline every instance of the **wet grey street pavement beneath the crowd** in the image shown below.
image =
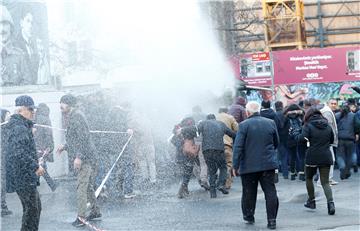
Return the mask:
{"type": "MultiPolygon", "coordinates": [[[[339,180],[339,172],[335,172],[339,180]]],[[[61,180],[56,192],[45,182],[39,188],[42,201],[40,230],[92,230],[74,228],[76,216],[75,181],[61,180]]],[[[259,187],[255,224],[247,225],[241,213],[241,182],[237,178],[229,195],[218,192],[210,199],[208,192],[196,180],[189,186],[191,194],[178,199],[178,182],[168,187],[155,186],[137,191],[133,199],[113,199],[101,203],[102,219],[94,221],[102,230],[266,230],[266,211],[263,193],[259,187]]],[[[336,214],[327,214],[326,199],[321,187],[316,187],[317,209],[304,208],[305,182],[283,180],[277,184],[280,208],[277,230],[360,230],[360,176],[333,186],[336,214]]],[[[8,194],[8,206],[13,215],[1,219],[2,231],[20,230],[21,204],[15,194],[8,194]]]]}

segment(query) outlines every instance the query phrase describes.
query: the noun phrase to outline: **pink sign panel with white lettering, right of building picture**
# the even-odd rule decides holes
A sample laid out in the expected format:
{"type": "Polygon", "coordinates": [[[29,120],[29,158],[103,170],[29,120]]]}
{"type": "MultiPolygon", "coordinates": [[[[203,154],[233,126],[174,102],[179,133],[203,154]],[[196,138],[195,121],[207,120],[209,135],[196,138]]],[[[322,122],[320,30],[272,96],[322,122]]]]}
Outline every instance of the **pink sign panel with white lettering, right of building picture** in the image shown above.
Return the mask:
{"type": "Polygon", "coordinates": [[[274,83],[360,81],[360,47],[274,52],[274,83]]]}

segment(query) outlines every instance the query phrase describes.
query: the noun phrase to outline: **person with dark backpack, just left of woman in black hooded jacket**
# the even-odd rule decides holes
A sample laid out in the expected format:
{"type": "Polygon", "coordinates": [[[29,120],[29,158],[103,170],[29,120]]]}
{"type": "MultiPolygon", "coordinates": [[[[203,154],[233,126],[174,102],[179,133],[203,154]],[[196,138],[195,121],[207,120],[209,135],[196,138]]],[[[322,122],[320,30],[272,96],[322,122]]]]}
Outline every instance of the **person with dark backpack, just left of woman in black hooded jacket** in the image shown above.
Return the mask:
{"type": "Polygon", "coordinates": [[[304,158],[305,148],[302,142],[295,139],[302,130],[302,117],[304,111],[297,104],[291,104],[285,109],[285,129],[289,131],[287,139],[287,150],[290,156],[290,179],[296,179],[296,170],[299,173],[299,180],[305,180],[304,158]]]}

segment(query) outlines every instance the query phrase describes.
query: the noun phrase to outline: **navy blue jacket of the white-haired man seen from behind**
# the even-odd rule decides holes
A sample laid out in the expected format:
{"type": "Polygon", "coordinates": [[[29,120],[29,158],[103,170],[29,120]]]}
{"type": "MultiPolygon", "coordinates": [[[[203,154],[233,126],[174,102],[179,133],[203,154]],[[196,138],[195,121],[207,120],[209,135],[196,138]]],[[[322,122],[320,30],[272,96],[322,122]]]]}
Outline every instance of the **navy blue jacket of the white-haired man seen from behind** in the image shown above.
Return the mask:
{"type": "Polygon", "coordinates": [[[246,174],[278,168],[278,144],[275,122],[255,113],[239,125],[233,145],[234,169],[246,174]]]}

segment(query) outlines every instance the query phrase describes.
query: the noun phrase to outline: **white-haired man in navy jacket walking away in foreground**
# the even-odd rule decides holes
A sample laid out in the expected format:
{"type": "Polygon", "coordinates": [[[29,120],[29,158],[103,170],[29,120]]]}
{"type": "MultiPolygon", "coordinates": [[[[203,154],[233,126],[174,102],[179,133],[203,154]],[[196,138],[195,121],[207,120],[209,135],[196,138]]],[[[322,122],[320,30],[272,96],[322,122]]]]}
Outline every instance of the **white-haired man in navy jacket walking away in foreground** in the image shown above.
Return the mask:
{"type": "Polygon", "coordinates": [[[241,175],[243,187],[242,212],[248,223],[255,222],[257,187],[260,182],[265,194],[268,228],[276,228],[279,200],[274,184],[278,167],[276,151],[279,137],[274,121],[260,116],[260,105],[246,105],[248,119],[240,123],[234,142],[233,175],[241,175]]]}

